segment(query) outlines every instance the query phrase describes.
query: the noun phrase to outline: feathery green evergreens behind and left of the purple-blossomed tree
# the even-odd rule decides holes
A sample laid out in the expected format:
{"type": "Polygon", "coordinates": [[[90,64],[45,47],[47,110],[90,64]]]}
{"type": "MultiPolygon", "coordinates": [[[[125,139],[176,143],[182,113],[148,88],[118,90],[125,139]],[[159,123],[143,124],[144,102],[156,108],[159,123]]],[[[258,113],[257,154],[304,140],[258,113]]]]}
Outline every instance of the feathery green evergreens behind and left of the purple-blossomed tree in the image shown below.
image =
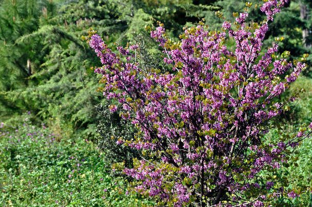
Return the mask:
{"type": "MultiPolygon", "coordinates": [[[[136,34],[146,36],[144,26],[157,20],[179,30],[193,14],[210,9],[190,1],[9,1],[0,7],[1,90],[3,116],[31,110],[53,119],[60,129],[72,128],[95,135],[100,102],[97,78],[90,70],[96,60],[81,35],[98,28],[109,45],[129,42],[136,34]],[[188,15],[188,18],[181,16],[188,15]],[[109,37],[108,37],[109,35],[109,37]]],[[[157,45],[148,44],[149,50],[157,45]]]]}

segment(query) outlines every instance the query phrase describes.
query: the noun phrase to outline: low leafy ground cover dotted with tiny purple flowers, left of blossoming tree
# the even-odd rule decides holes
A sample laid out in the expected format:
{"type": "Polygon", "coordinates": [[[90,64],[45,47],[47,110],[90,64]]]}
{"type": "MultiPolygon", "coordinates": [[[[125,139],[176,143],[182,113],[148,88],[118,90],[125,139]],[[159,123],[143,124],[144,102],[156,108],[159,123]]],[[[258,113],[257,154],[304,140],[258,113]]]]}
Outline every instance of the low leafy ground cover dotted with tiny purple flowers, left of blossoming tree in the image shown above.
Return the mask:
{"type": "Polygon", "coordinates": [[[14,127],[1,123],[2,206],[153,205],[126,195],[127,183],[110,176],[106,154],[92,142],[65,139],[44,123],[33,125],[31,114],[20,118],[14,127]]]}

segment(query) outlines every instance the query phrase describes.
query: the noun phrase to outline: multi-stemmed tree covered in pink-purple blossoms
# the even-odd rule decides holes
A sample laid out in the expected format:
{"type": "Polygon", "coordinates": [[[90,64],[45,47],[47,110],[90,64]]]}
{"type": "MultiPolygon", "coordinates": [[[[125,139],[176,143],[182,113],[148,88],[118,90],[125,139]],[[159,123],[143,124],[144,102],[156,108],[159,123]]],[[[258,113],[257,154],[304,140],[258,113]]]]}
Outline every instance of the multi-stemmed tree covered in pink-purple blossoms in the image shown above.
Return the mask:
{"type": "Polygon", "coordinates": [[[133,190],[175,206],[263,206],[270,197],[298,196],[263,172],[287,163],[286,155],[309,136],[312,123],[274,143],[263,135],[267,121],[294,100],[274,102],[306,67],[307,55],[301,62],[287,61],[287,51],[276,55],[282,38],[260,55],[268,22],[286,0],[264,2],[266,19],[260,24],[246,24],[247,3],[221,31],[207,31],[200,22],[179,42],[169,39],[160,24],[151,36],[170,71],[140,65],[138,45],[118,47],[115,54],[95,31],[84,37],[103,64],[95,72],[103,75],[104,96],[122,106],[112,104],[110,110],[119,110],[139,129],[132,140],[118,140],[142,155],[133,159],[132,169],[116,165],[136,178],[133,190]],[[234,50],[225,45],[227,33],[236,42],[234,50]]]}

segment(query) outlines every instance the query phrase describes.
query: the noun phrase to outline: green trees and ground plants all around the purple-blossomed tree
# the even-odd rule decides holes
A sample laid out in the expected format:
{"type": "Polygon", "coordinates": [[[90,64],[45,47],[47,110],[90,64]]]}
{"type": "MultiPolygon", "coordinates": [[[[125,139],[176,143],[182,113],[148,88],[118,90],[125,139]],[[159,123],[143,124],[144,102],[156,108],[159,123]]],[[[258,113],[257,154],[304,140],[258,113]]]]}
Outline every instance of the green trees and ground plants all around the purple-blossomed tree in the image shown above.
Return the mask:
{"type": "MultiPolygon", "coordinates": [[[[248,22],[263,14],[252,0],[248,22]]],[[[0,205],[2,206],[153,206],[157,200],[128,195],[131,179],[111,166],[135,151],[121,148],[111,137],[131,137],[133,131],[117,113],[108,110],[101,93],[99,59],[81,36],[93,28],[117,50],[127,42],[141,45],[145,65],[161,64],[163,54],[149,34],[161,21],[170,38],[184,27],[205,19],[208,30],[221,27],[246,6],[237,0],[0,0],[0,205]],[[149,55],[146,55],[149,54],[149,55]],[[152,55],[151,55],[152,54],[152,55]],[[44,123],[44,124],[43,124],[44,123]]],[[[312,3],[292,0],[275,16],[264,48],[283,37],[280,53],[291,59],[311,54],[312,3]]],[[[228,41],[229,47],[235,42],[228,41]]],[[[267,140],[295,134],[312,120],[312,57],[308,67],[283,100],[298,93],[295,102],[269,123],[267,140]],[[274,126],[274,127],[273,127],[274,126]]],[[[160,65],[160,67],[163,67],[160,65]]],[[[280,198],[279,206],[312,206],[312,140],[304,140],[289,163],[274,175],[302,193],[280,198]]]]}

